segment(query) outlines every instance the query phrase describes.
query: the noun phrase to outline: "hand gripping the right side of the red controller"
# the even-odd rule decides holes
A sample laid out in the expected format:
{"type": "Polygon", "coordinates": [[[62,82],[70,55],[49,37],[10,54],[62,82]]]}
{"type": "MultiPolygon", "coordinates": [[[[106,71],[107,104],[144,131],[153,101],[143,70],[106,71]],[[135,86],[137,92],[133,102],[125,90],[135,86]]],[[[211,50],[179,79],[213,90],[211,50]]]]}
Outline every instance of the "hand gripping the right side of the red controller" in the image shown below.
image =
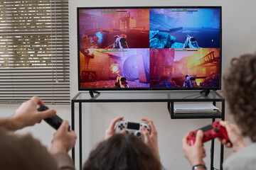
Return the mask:
{"type": "Polygon", "coordinates": [[[237,125],[233,125],[229,123],[228,121],[220,121],[220,125],[226,128],[228,132],[228,138],[230,139],[230,142],[220,139],[221,144],[225,145],[225,147],[232,147],[233,152],[237,152],[240,149],[244,148],[247,146],[247,143],[245,142],[245,138],[242,137],[242,134],[240,130],[238,129],[237,125]]]}

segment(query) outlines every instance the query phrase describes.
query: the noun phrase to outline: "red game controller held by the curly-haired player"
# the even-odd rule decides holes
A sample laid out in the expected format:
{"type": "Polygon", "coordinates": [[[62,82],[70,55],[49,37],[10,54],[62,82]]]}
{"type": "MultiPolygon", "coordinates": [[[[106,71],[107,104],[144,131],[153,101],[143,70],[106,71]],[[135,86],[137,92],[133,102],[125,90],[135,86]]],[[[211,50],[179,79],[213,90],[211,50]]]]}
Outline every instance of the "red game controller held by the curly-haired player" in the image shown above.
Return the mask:
{"type": "MultiPolygon", "coordinates": [[[[203,142],[207,142],[208,140],[212,140],[215,137],[220,137],[221,139],[225,139],[227,142],[230,142],[228,138],[228,132],[220,125],[220,121],[215,121],[210,125],[207,125],[203,128],[200,128],[198,130],[203,130],[203,142]]],[[[196,142],[196,132],[198,130],[193,130],[189,132],[188,140],[189,145],[194,145],[196,142]]]]}

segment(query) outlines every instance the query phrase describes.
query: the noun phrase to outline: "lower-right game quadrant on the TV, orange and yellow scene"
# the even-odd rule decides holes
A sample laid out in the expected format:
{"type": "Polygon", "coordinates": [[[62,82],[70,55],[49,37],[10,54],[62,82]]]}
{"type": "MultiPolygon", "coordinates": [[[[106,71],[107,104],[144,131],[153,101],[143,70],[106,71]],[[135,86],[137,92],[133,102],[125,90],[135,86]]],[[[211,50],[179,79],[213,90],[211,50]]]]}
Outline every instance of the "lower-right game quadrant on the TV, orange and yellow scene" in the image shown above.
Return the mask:
{"type": "Polygon", "coordinates": [[[150,49],[150,87],[220,86],[220,49],[150,49]]]}

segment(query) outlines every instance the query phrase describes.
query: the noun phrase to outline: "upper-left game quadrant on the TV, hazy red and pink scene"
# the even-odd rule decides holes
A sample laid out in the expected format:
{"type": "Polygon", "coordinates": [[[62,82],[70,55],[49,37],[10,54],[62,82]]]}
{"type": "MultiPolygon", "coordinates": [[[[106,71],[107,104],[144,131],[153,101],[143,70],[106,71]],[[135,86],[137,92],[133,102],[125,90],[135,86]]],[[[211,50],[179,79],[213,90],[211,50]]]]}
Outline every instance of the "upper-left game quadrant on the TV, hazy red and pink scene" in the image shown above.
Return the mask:
{"type": "Polygon", "coordinates": [[[149,48],[149,8],[82,9],[80,49],[149,48]]]}

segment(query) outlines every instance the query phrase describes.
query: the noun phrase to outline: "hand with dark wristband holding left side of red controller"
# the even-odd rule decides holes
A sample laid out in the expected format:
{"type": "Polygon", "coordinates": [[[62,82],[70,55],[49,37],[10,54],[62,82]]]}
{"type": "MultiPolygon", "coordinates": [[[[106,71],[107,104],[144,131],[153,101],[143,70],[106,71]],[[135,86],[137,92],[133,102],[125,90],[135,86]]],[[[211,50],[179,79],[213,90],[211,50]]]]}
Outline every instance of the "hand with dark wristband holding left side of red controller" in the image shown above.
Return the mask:
{"type": "Polygon", "coordinates": [[[198,130],[196,132],[196,142],[193,146],[188,144],[188,135],[189,133],[183,137],[183,153],[191,166],[195,166],[197,164],[206,165],[203,162],[203,158],[206,157],[206,149],[203,148],[203,131],[198,130]]]}

